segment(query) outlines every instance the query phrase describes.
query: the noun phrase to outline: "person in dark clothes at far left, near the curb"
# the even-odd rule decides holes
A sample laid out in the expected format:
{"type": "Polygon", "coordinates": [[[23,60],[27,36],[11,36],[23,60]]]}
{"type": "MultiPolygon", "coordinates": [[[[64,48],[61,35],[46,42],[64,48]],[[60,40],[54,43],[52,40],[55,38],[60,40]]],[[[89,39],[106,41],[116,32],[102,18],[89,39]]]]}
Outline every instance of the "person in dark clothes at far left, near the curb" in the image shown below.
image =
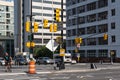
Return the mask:
{"type": "Polygon", "coordinates": [[[4,56],[4,60],[5,60],[5,71],[6,72],[11,72],[11,57],[8,55],[8,53],[5,53],[4,56]]]}

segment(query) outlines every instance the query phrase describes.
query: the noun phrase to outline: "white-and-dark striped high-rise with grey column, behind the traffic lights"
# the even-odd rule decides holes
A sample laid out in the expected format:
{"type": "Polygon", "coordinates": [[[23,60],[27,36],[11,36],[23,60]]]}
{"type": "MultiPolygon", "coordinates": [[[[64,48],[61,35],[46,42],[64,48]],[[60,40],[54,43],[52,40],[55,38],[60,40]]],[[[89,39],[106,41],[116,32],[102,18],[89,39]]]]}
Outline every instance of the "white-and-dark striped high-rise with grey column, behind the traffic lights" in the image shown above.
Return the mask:
{"type": "MultiPolygon", "coordinates": [[[[65,7],[65,0],[63,8],[65,7]]],[[[28,41],[28,35],[25,31],[25,22],[29,19],[31,15],[31,0],[15,0],[15,50],[19,52],[28,51],[26,47],[26,42],[28,41]]],[[[36,47],[46,45],[51,39],[52,33],[49,29],[43,29],[43,20],[48,19],[50,25],[54,22],[54,9],[61,8],[61,0],[32,0],[32,21],[39,23],[39,30],[34,34],[34,42],[36,47]]],[[[66,12],[64,11],[64,16],[66,12]]],[[[65,39],[66,25],[65,18],[63,19],[63,35],[65,39]]],[[[61,31],[54,33],[54,39],[60,36],[61,31]]]]}

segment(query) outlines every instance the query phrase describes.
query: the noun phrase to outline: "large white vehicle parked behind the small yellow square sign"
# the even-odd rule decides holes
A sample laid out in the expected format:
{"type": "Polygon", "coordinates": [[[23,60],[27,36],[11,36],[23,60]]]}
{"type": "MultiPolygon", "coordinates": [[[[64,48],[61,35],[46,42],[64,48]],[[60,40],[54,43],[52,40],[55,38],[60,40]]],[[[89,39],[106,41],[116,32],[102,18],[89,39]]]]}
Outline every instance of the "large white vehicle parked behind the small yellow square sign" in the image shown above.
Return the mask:
{"type": "MultiPolygon", "coordinates": [[[[54,54],[55,60],[60,60],[60,54],[54,54]]],[[[65,63],[71,63],[72,62],[72,55],[70,53],[65,53],[65,56],[63,56],[63,60],[65,63]]]]}

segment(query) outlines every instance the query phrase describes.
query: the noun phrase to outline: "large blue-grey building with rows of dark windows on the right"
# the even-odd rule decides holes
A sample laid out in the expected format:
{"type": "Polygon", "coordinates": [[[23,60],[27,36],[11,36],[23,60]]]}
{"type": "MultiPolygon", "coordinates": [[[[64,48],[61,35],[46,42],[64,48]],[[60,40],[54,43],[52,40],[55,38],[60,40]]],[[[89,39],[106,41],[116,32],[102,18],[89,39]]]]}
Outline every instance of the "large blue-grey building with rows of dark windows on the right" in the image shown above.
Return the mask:
{"type": "Polygon", "coordinates": [[[80,37],[81,58],[119,58],[119,3],[120,0],[67,0],[67,51],[75,53],[75,38],[80,37]]]}

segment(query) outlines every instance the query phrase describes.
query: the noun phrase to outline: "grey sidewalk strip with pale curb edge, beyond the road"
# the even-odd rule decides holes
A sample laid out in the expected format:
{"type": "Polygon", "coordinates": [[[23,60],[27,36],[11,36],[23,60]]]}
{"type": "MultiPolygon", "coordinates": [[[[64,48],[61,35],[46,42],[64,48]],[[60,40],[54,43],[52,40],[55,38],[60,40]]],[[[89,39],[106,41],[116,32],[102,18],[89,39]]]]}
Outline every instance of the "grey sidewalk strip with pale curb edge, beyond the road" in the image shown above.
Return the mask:
{"type": "MultiPolygon", "coordinates": [[[[36,74],[51,74],[51,73],[68,73],[68,72],[89,72],[89,71],[98,71],[103,69],[119,69],[120,64],[99,64],[95,63],[97,66],[97,69],[90,69],[90,64],[88,63],[79,63],[75,65],[66,65],[66,68],[63,70],[54,70],[53,66],[46,65],[47,67],[43,68],[39,65],[36,68],[36,74]],[[72,66],[72,67],[71,67],[72,66]]],[[[22,67],[15,67],[13,66],[12,72],[5,72],[4,68],[0,68],[0,76],[3,75],[21,75],[21,74],[29,74],[28,66],[22,66],[22,67]]]]}

